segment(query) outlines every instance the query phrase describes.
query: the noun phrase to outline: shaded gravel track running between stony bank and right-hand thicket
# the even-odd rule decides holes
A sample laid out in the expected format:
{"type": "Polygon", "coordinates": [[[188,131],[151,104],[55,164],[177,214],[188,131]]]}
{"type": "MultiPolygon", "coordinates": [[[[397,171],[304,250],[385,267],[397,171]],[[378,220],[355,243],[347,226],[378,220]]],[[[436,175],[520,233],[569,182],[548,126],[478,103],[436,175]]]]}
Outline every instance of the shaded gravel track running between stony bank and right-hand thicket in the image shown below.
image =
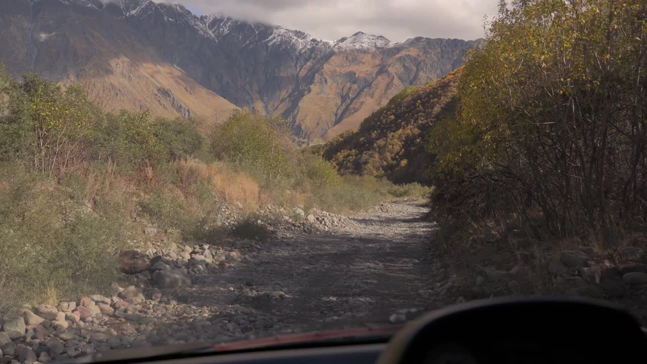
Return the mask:
{"type": "Polygon", "coordinates": [[[409,319],[439,306],[446,281],[428,259],[433,224],[424,218],[427,211],[421,201],[393,203],[332,231],[267,243],[252,258],[175,295],[202,307],[239,304],[248,316],[276,323],[275,330],[386,324],[402,321],[405,311],[409,319]]]}

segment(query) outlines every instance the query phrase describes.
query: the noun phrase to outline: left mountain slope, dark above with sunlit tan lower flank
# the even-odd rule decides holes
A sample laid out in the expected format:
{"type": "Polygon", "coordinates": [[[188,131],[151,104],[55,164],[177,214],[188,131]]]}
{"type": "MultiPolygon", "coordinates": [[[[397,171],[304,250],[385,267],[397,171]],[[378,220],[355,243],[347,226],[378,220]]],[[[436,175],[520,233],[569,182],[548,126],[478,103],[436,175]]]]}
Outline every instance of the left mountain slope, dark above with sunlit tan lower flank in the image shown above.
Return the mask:
{"type": "Polygon", "coordinates": [[[3,1],[0,32],[0,61],[10,73],[82,82],[109,109],[173,117],[236,108],[162,60],[122,20],[83,1],[3,1]]]}

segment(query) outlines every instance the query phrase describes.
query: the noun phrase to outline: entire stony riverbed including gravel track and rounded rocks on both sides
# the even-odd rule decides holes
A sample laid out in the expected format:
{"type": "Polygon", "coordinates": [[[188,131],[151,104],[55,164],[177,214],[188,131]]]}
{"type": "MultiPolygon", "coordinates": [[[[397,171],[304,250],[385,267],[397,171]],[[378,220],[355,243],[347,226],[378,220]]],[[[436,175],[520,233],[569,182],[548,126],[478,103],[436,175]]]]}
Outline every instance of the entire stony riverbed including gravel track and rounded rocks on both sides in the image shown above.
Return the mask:
{"type": "Polygon", "coordinates": [[[122,251],[123,280],[107,294],[39,304],[3,323],[0,364],[401,323],[446,304],[524,287],[529,293],[614,299],[644,310],[642,248],[626,247],[617,257],[565,250],[547,261],[523,263],[517,257],[525,243],[515,240],[514,254],[481,254],[488,246],[481,244],[463,260],[484,264],[455,269],[457,262],[448,261],[431,238],[435,225],[427,212],[423,201],[384,203],[352,217],[297,208],[265,223],[272,234],[263,241],[180,245],[158,256],[122,251]],[[529,273],[531,266],[551,285],[532,286],[538,278],[529,273]]]}

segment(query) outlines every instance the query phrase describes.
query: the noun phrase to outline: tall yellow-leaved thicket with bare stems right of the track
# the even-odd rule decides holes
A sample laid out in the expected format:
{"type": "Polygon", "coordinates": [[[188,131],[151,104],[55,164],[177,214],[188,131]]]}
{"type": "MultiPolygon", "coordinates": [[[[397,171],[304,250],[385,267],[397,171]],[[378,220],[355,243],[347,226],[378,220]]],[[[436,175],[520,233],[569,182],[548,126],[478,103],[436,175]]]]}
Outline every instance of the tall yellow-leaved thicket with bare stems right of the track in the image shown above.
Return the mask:
{"type": "Polygon", "coordinates": [[[646,14],[641,1],[501,6],[457,116],[433,129],[434,194],[486,216],[540,210],[556,236],[644,224],[646,14]]]}

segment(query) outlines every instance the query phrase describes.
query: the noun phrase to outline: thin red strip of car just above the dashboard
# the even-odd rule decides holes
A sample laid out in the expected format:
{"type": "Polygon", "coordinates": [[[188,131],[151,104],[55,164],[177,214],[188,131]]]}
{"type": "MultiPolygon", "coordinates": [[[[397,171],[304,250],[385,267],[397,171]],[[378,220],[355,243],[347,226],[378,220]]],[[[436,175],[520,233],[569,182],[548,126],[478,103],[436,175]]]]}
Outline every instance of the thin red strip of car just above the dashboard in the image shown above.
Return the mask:
{"type": "Polygon", "coordinates": [[[339,337],[358,337],[358,336],[361,337],[361,336],[395,332],[398,329],[399,329],[399,326],[397,327],[386,326],[386,327],[377,327],[377,328],[353,329],[353,330],[345,330],[345,331],[306,332],[303,334],[280,335],[280,336],[266,337],[265,339],[254,339],[254,340],[246,340],[246,341],[236,341],[234,343],[224,343],[224,344],[215,345],[214,350],[230,351],[230,350],[239,350],[239,349],[246,349],[246,348],[267,347],[271,345],[300,343],[302,341],[336,339],[339,337]]]}

